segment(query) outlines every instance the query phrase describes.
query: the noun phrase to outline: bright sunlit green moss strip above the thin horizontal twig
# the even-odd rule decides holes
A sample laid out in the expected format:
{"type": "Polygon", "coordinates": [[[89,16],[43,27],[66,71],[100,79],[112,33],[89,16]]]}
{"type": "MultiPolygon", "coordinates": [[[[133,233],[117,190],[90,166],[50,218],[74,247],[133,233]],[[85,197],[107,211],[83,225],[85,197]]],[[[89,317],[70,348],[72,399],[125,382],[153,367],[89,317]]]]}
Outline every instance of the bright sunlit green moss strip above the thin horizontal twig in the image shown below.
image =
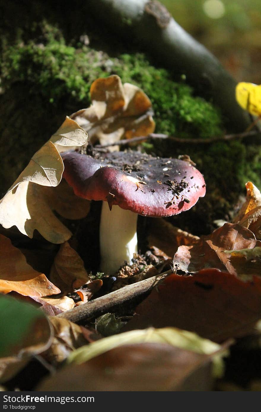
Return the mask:
{"type": "Polygon", "coordinates": [[[89,104],[89,89],[98,77],[117,74],[122,82],[141,87],[155,111],[161,133],[205,138],[222,133],[219,110],[184,82],[174,82],[164,69],[151,66],[143,54],[109,58],[106,53],[77,44],[67,45],[58,29],[42,26],[40,40],[4,45],[1,72],[4,88],[30,82],[30,94],[42,94],[53,105],[67,99],[73,111],[89,104]]]}

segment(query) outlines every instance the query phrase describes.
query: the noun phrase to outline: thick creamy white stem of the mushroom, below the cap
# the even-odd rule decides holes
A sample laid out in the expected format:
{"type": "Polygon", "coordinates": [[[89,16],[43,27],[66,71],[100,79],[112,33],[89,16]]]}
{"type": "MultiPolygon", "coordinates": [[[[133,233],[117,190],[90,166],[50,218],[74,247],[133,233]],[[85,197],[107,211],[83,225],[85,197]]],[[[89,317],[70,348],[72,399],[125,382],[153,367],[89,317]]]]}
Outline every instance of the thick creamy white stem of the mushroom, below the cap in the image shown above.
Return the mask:
{"type": "Polygon", "coordinates": [[[114,205],[110,211],[108,203],[103,201],[100,222],[100,270],[113,274],[126,260],[131,263],[137,253],[138,215],[114,205]]]}

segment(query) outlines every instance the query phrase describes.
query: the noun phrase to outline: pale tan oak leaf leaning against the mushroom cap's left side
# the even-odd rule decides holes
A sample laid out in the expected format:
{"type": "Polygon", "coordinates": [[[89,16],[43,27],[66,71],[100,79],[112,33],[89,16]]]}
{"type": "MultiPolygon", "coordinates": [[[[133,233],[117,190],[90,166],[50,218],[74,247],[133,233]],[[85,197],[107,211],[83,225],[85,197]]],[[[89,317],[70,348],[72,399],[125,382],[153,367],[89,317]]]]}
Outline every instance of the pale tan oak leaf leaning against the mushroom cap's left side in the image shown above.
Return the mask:
{"type": "MultiPolygon", "coordinates": [[[[59,150],[62,151],[61,148],[65,146],[68,150],[70,143],[82,145],[87,140],[87,133],[67,117],[51,140],[33,155],[28,166],[2,198],[0,224],[5,228],[15,225],[21,233],[31,238],[34,229],[37,229],[48,241],[63,243],[71,237],[71,232],[52,212],[52,208],[56,207],[46,191],[61,181],[64,167],[59,150]]],[[[59,211],[61,208],[59,205],[59,211]]]]}

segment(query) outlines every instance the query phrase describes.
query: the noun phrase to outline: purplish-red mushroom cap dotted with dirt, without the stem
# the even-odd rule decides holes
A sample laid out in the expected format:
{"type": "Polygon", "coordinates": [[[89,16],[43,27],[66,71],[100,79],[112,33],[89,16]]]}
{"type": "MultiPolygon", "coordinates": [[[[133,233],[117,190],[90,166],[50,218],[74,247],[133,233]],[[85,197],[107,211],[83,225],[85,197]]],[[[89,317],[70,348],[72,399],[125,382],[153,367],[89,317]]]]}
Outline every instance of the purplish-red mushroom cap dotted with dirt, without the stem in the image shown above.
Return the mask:
{"type": "Polygon", "coordinates": [[[143,216],[172,216],[205,196],[205,180],[189,162],[140,152],[61,155],[63,178],[75,194],[108,201],[143,216]]]}

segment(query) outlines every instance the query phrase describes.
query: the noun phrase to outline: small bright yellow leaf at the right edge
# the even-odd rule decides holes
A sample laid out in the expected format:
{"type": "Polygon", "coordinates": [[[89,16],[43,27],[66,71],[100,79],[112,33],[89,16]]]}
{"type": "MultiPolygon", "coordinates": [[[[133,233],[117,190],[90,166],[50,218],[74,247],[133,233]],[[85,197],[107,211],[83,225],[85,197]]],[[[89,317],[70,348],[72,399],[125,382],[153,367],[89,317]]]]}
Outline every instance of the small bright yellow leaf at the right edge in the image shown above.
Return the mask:
{"type": "Polygon", "coordinates": [[[237,103],[252,115],[261,115],[261,85],[240,82],[236,86],[237,103]]]}

